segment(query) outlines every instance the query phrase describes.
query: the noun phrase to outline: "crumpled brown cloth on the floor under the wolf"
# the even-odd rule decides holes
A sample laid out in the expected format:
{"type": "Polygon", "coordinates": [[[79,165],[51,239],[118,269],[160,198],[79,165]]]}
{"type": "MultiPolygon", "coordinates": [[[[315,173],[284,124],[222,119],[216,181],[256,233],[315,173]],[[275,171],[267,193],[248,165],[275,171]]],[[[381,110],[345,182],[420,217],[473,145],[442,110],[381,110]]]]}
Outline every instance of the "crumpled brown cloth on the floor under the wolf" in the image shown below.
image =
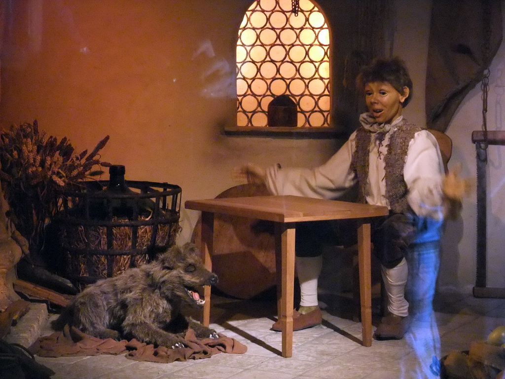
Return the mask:
{"type": "Polygon", "coordinates": [[[99,354],[119,355],[128,352],[126,354],[128,359],[159,363],[209,358],[218,353],[243,354],[247,351],[245,345],[223,335],[219,335],[217,339],[198,340],[192,329],[186,332],[184,344],[187,347],[169,349],[164,346],[147,345],[135,339],[131,341],[102,340],[66,325],[63,331],[40,337],[30,347],[30,351],[40,357],[55,358],[99,354]]]}

